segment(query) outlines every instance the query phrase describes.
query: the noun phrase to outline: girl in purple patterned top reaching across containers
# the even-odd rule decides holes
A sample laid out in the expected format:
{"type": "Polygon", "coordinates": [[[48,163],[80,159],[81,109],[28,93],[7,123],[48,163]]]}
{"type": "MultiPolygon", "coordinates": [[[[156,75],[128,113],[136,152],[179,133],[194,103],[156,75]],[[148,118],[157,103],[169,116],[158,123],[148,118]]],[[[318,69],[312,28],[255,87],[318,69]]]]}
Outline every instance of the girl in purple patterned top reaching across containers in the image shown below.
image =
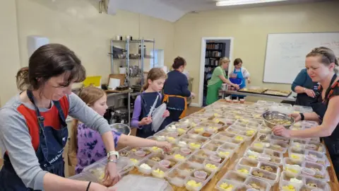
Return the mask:
{"type": "MultiPolygon", "coordinates": [[[[90,108],[95,110],[100,115],[104,115],[107,110],[107,96],[105,91],[100,88],[87,87],[83,88],[79,97],[90,108]]],[[[114,137],[114,144],[123,144],[131,147],[150,147],[157,146],[165,151],[171,149],[171,144],[166,141],[154,141],[151,139],[141,139],[134,136],[127,136],[118,132],[112,131],[114,137]]],[[[73,127],[73,141],[71,142],[71,149],[76,153],[78,163],[76,165],[76,173],[81,173],[83,168],[89,166],[101,158],[106,156],[104,143],[100,138],[98,132],[93,131],[81,122],[75,121],[73,127]]]]}

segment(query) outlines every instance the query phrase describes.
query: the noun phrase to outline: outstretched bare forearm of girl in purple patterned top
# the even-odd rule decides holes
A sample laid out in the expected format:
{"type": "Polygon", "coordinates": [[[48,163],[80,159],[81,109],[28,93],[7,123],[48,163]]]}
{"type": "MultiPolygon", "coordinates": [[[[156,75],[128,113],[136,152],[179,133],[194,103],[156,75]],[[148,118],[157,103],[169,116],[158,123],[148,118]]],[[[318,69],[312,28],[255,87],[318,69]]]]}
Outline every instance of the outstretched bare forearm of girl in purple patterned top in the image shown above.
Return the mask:
{"type": "Polygon", "coordinates": [[[126,146],[131,147],[150,147],[150,146],[156,146],[157,141],[152,139],[143,139],[135,136],[127,136],[125,134],[121,134],[121,137],[119,139],[119,144],[123,144],[126,146]]]}

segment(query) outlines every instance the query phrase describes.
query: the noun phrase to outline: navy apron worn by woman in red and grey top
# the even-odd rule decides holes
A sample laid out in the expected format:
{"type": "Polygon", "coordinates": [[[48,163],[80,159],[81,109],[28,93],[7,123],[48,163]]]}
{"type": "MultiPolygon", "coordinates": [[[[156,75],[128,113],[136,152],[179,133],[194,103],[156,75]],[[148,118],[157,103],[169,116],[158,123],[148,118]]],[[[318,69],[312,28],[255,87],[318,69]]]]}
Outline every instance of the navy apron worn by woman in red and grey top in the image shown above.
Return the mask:
{"type": "MultiPolygon", "coordinates": [[[[62,154],[64,146],[69,137],[64,111],[61,109],[59,101],[53,101],[59,110],[60,129],[44,127],[44,117],[35,105],[32,91],[27,91],[28,98],[35,106],[37,122],[39,124],[40,144],[36,151],[40,168],[54,175],[64,177],[64,159],[62,154]]],[[[0,171],[0,190],[6,191],[32,191],[32,188],[25,187],[23,181],[18,177],[7,154],[4,155],[4,166],[0,171]]]]}

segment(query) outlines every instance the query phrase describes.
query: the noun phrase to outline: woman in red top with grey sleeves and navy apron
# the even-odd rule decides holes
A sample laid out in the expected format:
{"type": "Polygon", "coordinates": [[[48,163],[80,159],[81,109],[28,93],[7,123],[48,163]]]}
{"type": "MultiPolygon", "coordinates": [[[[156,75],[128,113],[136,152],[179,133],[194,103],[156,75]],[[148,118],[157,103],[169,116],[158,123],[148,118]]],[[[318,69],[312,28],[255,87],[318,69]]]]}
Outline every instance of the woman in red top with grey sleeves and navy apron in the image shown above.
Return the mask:
{"type": "Polygon", "coordinates": [[[71,91],[85,76],[81,60],[59,44],[38,48],[28,67],[18,71],[21,92],[0,109],[1,190],[107,190],[98,183],[62,178],[67,115],[100,132],[108,159],[103,184],[119,181],[119,154],[107,120],[71,91]]]}

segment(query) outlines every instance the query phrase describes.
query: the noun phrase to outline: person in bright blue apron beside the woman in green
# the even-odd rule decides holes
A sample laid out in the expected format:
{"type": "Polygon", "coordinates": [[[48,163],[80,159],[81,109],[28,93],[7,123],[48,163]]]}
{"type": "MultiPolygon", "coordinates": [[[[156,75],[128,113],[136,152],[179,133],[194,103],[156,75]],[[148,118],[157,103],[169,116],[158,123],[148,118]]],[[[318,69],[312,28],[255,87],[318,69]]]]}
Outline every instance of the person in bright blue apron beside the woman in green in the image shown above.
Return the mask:
{"type": "MultiPolygon", "coordinates": [[[[251,79],[249,78],[249,71],[247,71],[247,69],[245,69],[242,66],[242,59],[234,59],[233,62],[234,65],[234,70],[233,73],[231,74],[231,78],[230,81],[232,81],[232,83],[238,84],[239,88],[242,89],[244,87],[246,87],[246,81],[248,81],[248,83],[251,83],[251,79]],[[235,78],[232,78],[232,75],[235,76],[235,78]]],[[[245,96],[239,96],[239,95],[232,95],[232,99],[242,99],[245,96]]]]}

